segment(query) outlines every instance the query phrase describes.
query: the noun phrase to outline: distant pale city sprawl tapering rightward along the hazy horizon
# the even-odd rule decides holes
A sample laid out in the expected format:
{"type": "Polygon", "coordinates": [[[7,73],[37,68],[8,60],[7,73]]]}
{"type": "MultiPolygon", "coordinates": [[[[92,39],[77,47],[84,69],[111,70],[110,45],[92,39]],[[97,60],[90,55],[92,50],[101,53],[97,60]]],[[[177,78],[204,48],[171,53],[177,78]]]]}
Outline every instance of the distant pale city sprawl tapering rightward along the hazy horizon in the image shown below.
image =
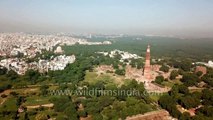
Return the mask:
{"type": "Polygon", "coordinates": [[[89,42],[86,39],[61,35],[35,35],[26,33],[0,33],[0,56],[17,56],[20,53],[35,57],[42,50],[52,51],[57,45],[102,45],[110,41],[89,42]]]}

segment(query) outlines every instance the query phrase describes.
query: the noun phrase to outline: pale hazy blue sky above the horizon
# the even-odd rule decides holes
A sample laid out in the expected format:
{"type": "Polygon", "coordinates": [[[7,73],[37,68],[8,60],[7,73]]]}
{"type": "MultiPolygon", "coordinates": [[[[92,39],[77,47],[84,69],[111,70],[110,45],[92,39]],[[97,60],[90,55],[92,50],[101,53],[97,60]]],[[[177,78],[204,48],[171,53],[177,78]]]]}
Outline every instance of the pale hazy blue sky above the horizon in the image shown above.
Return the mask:
{"type": "Polygon", "coordinates": [[[0,0],[0,31],[213,37],[213,0],[0,0]]]}

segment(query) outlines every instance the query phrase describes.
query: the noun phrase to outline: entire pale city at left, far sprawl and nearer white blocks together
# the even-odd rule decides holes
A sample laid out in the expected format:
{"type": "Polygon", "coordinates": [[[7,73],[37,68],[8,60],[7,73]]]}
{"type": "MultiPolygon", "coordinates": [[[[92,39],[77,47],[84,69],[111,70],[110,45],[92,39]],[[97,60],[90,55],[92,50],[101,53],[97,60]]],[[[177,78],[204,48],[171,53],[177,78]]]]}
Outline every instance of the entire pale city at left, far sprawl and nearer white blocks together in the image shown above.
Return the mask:
{"type": "Polygon", "coordinates": [[[0,56],[5,58],[0,61],[0,66],[14,70],[18,74],[25,74],[29,69],[47,72],[48,70],[63,70],[67,64],[75,61],[75,55],[63,55],[63,45],[102,45],[112,44],[110,41],[89,42],[86,39],[75,38],[67,35],[36,35],[26,33],[0,33],[0,56]],[[55,49],[56,48],[56,49],[55,49]],[[55,49],[55,50],[54,50],[55,49]],[[25,58],[34,58],[43,51],[52,51],[59,56],[50,60],[27,62],[25,58]]]}

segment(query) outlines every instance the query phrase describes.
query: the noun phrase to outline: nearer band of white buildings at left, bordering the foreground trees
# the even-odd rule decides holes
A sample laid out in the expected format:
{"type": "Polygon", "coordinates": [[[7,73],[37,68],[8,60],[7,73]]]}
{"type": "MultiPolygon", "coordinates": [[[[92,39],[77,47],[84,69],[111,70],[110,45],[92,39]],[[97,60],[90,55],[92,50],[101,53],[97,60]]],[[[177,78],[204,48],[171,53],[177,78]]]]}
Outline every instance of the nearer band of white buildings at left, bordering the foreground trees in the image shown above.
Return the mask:
{"type": "Polygon", "coordinates": [[[8,58],[0,61],[0,66],[6,67],[8,70],[13,70],[16,73],[23,75],[29,69],[38,70],[39,72],[48,72],[48,70],[63,70],[67,64],[75,62],[75,56],[59,55],[52,57],[50,60],[40,59],[38,62],[27,63],[24,59],[8,58]]]}

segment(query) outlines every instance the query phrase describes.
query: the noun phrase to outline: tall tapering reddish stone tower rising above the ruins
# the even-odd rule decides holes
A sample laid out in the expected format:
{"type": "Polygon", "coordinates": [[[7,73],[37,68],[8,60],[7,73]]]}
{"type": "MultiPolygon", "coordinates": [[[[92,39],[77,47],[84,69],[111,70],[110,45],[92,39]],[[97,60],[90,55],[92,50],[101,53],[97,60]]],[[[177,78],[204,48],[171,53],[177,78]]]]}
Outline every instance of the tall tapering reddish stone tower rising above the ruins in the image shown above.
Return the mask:
{"type": "Polygon", "coordinates": [[[150,45],[147,46],[146,50],[146,61],[144,66],[144,77],[147,80],[151,79],[151,66],[150,66],[150,45]]]}

